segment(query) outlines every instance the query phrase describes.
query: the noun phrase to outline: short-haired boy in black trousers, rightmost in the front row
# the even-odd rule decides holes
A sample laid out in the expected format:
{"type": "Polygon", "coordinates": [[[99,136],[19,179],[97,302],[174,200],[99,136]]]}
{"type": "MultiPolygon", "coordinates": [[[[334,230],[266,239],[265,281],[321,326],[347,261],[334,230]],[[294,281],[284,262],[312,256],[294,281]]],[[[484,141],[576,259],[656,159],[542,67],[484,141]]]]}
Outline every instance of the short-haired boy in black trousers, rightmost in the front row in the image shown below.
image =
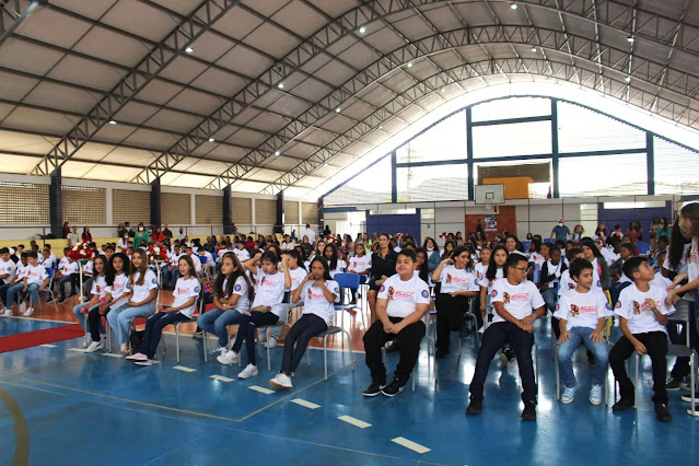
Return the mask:
{"type": "Polygon", "coordinates": [[[651,287],[655,278],[645,257],[631,257],[624,265],[624,275],[633,280],[625,288],[614,310],[619,317],[619,328],[624,336],[609,351],[609,365],[619,383],[621,398],[614,405],[615,411],[625,411],[633,407],[633,382],[626,373],[624,362],[633,354],[651,357],[653,368],[653,403],[655,416],[661,422],[673,420],[667,410],[667,389],[665,372],[667,362],[667,315],[675,312],[674,306],[665,302],[667,291],[661,287],[651,287]]]}

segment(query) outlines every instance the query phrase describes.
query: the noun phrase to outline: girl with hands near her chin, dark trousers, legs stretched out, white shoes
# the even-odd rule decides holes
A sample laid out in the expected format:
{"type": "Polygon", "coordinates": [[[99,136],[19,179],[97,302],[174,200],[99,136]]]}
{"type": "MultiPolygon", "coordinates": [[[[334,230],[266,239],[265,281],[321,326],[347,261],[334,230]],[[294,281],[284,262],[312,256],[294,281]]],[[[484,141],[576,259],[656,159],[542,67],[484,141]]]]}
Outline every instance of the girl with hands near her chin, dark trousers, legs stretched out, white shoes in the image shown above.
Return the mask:
{"type": "Polygon", "coordinates": [[[328,264],[324,258],[315,257],[311,261],[311,273],[293,290],[291,300],[294,303],[303,300],[303,314],[287,334],[281,371],[269,381],[269,386],[273,389],[293,387],[291,374],[301,363],[308,341],[327,330],[335,316],[334,303],[340,300],[340,287],[330,279],[328,264]]]}

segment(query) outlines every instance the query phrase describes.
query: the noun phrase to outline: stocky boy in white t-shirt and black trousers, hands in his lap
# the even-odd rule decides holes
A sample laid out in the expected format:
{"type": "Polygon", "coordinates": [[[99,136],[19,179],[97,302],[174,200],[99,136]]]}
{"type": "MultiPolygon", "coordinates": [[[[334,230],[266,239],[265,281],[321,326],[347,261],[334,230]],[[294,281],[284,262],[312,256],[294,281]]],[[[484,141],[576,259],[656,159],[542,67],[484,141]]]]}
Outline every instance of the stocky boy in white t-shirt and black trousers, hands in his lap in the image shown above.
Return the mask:
{"type": "Polygon", "coordinates": [[[365,361],[372,377],[364,396],[383,394],[392,397],[403,392],[418,360],[426,330],[423,318],[430,307],[430,289],[415,275],[415,251],[398,253],[396,275],[388,277],[378,290],[377,321],[364,334],[365,361]],[[400,360],[393,382],[385,385],[386,366],[381,348],[394,338],[400,347],[400,360]]]}

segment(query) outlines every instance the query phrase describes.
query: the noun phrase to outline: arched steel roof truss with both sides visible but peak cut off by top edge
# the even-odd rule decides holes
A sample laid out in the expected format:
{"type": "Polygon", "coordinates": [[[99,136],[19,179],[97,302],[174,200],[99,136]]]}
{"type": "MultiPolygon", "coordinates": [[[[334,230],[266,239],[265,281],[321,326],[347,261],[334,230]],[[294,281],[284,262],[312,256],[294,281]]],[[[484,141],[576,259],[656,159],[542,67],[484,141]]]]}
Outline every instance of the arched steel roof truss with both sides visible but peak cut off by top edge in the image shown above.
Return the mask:
{"type": "MultiPolygon", "coordinates": [[[[255,81],[249,83],[245,89],[243,89],[229,102],[217,109],[217,112],[211,115],[211,120],[205,120],[199,127],[195,128],[187,138],[184,138],[176,144],[174,144],[173,148],[171,148],[171,151],[164,152],[153,164],[151,164],[147,170],[139,174],[139,176],[137,176],[133,182],[150,183],[152,178],[160,176],[160,174],[163,172],[166,172],[170,167],[174,166],[174,164],[176,164],[182,158],[196,150],[200,144],[206,142],[209,137],[214,135],[218,129],[220,129],[215,125],[217,120],[225,121],[226,118],[228,120],[232,120],[240,112],[244,110],[248,105],[251,105],[256,98],[260,97],[269,89],[272,89],[278,82],[282,81],[294,71],[301,69],[303,65],[315,58],[317,55],[324,54],[327,47],[336,44],[338,40],[342,39],[347,35],[356,34],[356,31],[360,26],[368,25],[375,20],[382,20],[397,12],[413,10],[420,7],[429,5],[439,8],[442,4],[451,7],[452,3],[470,3],[480,1],[481,0],[410,0],[385,2],[383,0],[368,0],[362,2],[358,7],[347,11],[330,23],[321,27],[312,36],[306,38],[302,44],[300,44],[281,60],[279,60],[273,67],[267,69],[255,81]],[[173,154],[171,152],[176,153],[173,154]]],[[[525,2],[532,7],[561,11],[557,8],[557,3],[554,0],[520,1],[525,2]]],[[[563,12],[566,14],[571,14],[575,18],[585,19],[592,22],[597,21],[601,24],[608,25],[617,30],[622,30],[625,27],[624,24],[621,24],[620,26],[616,26],[615,23],[618,22],[619,19],[624,19],[627,11],[630,11],[629,5],[616,0],[602,0],[597,3],[593,3],[593,7],[594,8],[591,9],[590,4],[585,4],[584,2],[569,2],[568,5],[563,7],[563,12]],[[607,11],[605,18],[609,18],[609,12],[613,10],[613,8],[614,18],[608,23],[601,21],[598,18],[596,20],[595,18],[593,18],[596,15],[597,12],[605,9],[607,11]]],[[[639,28],[639,36],[643,36],[648,39],[655,40],[663,45],[672,46],[665,35],[663,35],[662,33],[661,23],[664,24],[671,22],[672,24],[676,24],[677,22],[655,13],[646,11],[643,11],[643,13],[649,15],[649,20],[644,24],[651,24],[651,26],[649,26],[651,27],[651,30],[652,24],[655,24],[655,34],[651,34],[651,30],[649,30],[651,32],[646,32],[644,28],[639,28]],[[655,20],[655,22],[653,23],[651,19],[655,20]]],[[[684,23],[683,26],[686,26],[684,28],[692,28],[692,34],[695,36],[699,36],[699,28],[691,25],[686,25],[684,23]],[[696,34],[694,33],[695,31],[696,34]]],[[[694,40],[690,40],[689,44],[687,44],[687,47],[690,46],[694,40]]],[[[685,42],[683,40],[680,43],[680,46],[684,45],[685,42]]],[[[692,50],[687,51],[690,54],[695,53],[692,50]]],[[[699,56],[699,50],[696,51],[696,55],[699,56]]],[[[327,105],[327,107],[336,108],[343,101],[330,102],[331,105],[327,105]]]]}

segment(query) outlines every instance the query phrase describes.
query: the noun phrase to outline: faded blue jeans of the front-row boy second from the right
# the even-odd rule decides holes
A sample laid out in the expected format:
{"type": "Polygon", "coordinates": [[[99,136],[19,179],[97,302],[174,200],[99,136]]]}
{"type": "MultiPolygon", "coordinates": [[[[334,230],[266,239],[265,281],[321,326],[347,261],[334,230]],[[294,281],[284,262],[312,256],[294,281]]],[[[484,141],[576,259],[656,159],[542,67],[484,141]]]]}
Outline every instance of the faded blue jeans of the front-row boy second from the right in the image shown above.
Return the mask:
{"type": "Polygon", "coordinates": [[[594,328],[586,327],[573,327],[568,333],[570,338],[568,341],[558,346],[558,366],[561,371],[561,380],[563,385],[569,388],[574,388],[578,385],[575,381],[575,374],[573,373],[573,353],[581,345],[584,345],[590,351],[595,354],[595,366],[592,370],[592,384],[602,385],[607,374],[607,363],[609,362],[609,354],[607,352],[607,342],[601,341],[598,343],[590,339],[590,335],[594,331],[594,328]]]}

